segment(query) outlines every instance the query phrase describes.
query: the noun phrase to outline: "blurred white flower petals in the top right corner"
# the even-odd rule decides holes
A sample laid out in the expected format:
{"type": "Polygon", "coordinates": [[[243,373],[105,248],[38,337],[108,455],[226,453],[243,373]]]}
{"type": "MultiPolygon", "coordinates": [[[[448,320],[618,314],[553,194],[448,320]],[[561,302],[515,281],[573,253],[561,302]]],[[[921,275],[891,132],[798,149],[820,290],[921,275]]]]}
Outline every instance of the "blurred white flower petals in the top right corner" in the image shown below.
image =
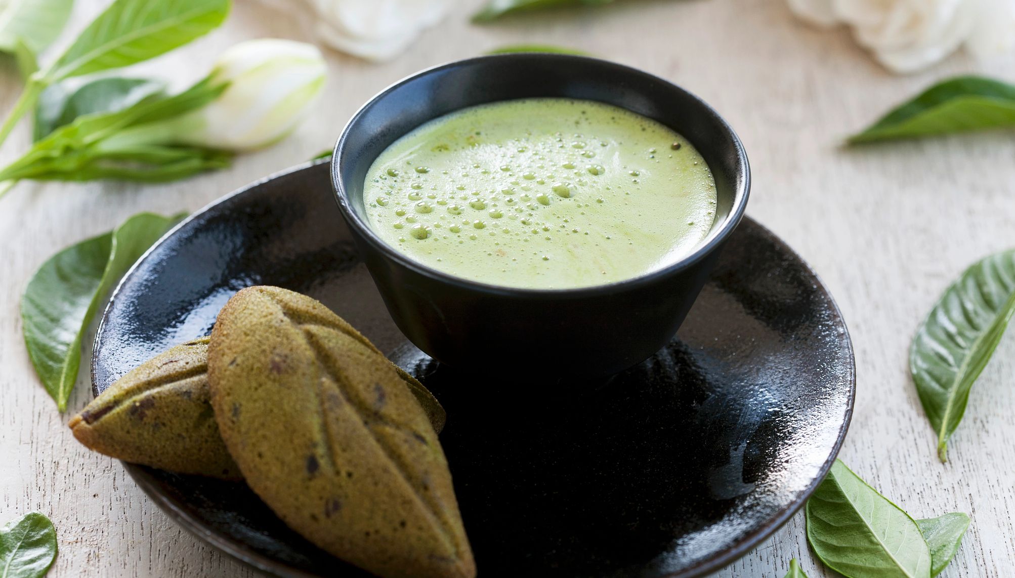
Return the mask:
{"type": "Polygon", "coordinates": [[[789,0],[820,25],[844,23],[886,67],[913,72],[961,47],[984,58],[1015,47],[1015,0],[789,0]]]}

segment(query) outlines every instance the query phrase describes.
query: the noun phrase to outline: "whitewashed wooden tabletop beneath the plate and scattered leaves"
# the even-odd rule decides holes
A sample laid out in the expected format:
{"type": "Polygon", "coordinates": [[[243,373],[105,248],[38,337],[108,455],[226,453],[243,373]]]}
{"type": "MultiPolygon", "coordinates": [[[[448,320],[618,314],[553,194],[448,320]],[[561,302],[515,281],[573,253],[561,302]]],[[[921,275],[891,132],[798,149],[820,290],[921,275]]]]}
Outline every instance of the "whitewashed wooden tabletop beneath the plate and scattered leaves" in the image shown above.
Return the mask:
{"type": "MultiPolygon", "coordinates": [[[[79,29],[108,0],[79,0],[79,29]]],[[[951,461],[935,438],[906,371],[913,329],[966,265],[1015,245],[1015,139],[995,133],[843,150],[843,135],[931,81],[983,72],[1015,79],[1015,58],[954,57],[908,77],[879,68],[839,30],[797,22],[782,0],[630,0],[617,5],[474,26],[463,2],[394,62],[328,53],[331,76],[313,122],[291,138],[239,158],[228,171],[183,183],[19,185],[0,202],[0,521],[32,510],[52,518],[60,556],[51,576],[224,576],[254,573],[170,521],[119,462],[79,446],[39,384],[21,341],[18,299],[52,253],[140,210],[197,209],[269,172],[330,147],[345,121],[390,82],[441,62],[520,42],[552,43],[645,68],[709,102],[743,138],[754,170],[748,213],[814,267],[844,313],[857,354],[856,414],[841,457],[916,517],[950,511],[972,528],[945,576],[1011,576],[1015,567],[1015,331],[973,389],[951,461]]],[[[209,55],[257,37],[303,40],[301,24],[238,0],[218,31],[163,57],[159,74],[184,83],[209,55]]],[[[0,108],[19,81],[0,66],[0,108]]],[[[22,126],[3,147],[27,143],[22,126]]],[[[90,398],[80,375],[70,409],[90,398]]],[[[720,576],[782,578],[791,558],[822,576],[798,515],[720,576]]]]}

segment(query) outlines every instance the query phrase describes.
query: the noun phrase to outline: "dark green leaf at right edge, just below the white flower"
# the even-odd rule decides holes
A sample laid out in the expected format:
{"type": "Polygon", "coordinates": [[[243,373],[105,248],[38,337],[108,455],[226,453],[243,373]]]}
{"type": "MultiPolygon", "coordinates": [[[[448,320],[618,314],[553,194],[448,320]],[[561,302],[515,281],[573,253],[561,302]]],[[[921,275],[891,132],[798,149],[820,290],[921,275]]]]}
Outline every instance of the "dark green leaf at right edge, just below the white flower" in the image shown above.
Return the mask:
{"type": "Polygon", "coordinates": [[[900,105],[851,144],[1015,127],[1015,85],[991,78],[945,80],[900,105]]]}

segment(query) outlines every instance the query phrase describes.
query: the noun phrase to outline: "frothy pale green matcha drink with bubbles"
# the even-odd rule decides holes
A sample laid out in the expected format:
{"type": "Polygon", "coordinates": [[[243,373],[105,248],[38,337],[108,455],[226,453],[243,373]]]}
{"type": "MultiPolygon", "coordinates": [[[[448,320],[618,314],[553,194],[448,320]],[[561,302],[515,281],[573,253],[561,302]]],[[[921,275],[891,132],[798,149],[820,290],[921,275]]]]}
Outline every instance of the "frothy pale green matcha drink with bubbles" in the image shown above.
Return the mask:
{"type": "Polygon", "coordinates": [[[682,136],[610,105],[507,101],[389,146],[363,190],[400,252],[485,283],[570,288],[678,261],[708,234],[716,181],[682,136]]]}

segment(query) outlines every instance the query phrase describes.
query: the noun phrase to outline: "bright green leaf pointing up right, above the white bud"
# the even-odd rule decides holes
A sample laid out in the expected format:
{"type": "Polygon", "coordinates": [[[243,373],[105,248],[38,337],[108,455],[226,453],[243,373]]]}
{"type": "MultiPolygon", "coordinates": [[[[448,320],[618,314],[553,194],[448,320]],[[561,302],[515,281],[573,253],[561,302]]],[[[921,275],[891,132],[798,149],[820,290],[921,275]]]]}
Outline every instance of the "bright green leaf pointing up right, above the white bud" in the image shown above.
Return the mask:
{"type": "Polygon", "coordinates": [[[229,0],[116,0],[44,76],[55,82],[154,58],[216,28],[229,7],[229,0]]]}

